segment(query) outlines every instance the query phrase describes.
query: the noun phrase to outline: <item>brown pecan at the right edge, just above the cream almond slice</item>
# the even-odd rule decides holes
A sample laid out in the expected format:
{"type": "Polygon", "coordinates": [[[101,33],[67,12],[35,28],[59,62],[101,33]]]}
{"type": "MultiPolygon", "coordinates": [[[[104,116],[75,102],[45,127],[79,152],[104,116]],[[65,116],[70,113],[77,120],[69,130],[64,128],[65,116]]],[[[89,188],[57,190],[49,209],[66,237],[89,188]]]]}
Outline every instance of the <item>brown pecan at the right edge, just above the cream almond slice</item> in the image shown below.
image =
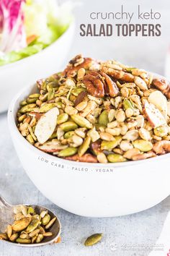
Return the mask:
{"type": "Polygon", "coordinates": [[[170,83],[164,78],[155,78],[153,79],[153,85],[155,85],[156,88],[161,90],[164,95],[166,95],[167,98],[170,98],[170,83]]]}

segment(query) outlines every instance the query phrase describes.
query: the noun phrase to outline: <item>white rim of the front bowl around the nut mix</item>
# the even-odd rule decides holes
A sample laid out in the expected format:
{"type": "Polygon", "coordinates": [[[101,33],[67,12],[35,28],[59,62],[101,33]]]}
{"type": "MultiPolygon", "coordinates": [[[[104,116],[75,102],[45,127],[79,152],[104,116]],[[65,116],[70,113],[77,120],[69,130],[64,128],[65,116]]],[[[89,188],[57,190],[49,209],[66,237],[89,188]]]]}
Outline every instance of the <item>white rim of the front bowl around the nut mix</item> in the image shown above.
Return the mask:
{"type": "Polygon", "coordinates": [[[50,158],[53,161],[59,161],[62,162],[63,164],[65,163],[66,165],[69,164],[73,164],[75,166],[86,166],[86,167],[100,167],[100,168],[106,168],[108,166],[108,168],[117,168],[117,167],[122,167],[122,166],[134,166],[140,163],[150,163],[152,161],[158,161],[158,160],[164,160],[166,158],[170,157],[170,153],[166,153],[164,155],[157,155],[156,157],[153,158],[147,158],[144,160],[138,160],[138,161],[125,161],[125,162],[119,162],[119,163],[86,163],[86,162],[78,162],[78,161],[70,161],[70,160],[66,160],[63,158],[58,158],[55,155],[50,155],[49,153],[45,153],[42,150],[39,150],[38,148],[36,148],[34,145],[31,145],[30,142],[28,142],[19,132],[19,130],[17,129],[17,125],[16,125],[16,114],[14,113],[14,107],[16,106],[16,102],[18,101],[18,99],[20,98],[20,96],[22,96],[24,94],[25,91],[29,90],[30,88],[33,88],[29,85],[26,86],[25,88],[23,88],[22,90],[19,91],[19,93],[17,93],[17,95],[14,96],[12,102],[9,105],[9,109],[8,109],[8,125],[9,127],[11,127],[10,129],[14,129],[14,134],[16,135],[17,139],[20,140],[23,145],[25,147],[30,148],[30,150],[32,150],[33,152],[36,153],[36,155],[42,155],[44,158],[50,158]]]}

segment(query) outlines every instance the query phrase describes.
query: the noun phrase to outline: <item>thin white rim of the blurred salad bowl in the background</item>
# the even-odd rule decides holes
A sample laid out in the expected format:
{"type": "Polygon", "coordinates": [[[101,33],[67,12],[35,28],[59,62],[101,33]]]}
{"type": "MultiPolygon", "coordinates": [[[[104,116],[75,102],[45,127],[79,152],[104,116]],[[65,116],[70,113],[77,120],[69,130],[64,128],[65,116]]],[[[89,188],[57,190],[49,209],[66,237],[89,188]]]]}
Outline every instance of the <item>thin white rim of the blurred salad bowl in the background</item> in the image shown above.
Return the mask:
{"type": "MultiPolygon", "coordinates": [[[[64,31],[64,33],[63,33],[58,39],[56,39],[53,43],[50,43],[49,46],[45,47],[45,48],[42,49],[41,51],[37,52],[37,54],[40,55],[40,54],[43,54],[45,51],[48,51],[50,47],[54,46],[55,43],[58,43],[58,40],[62,40],[62,39],[63,39],[63,36],[64,36],[66,33],[68,33],[68,32],[71,30],[71,28],[74,27],[74,25],[75,25],[75,22],[72,21],[72,22],[68,25],[66,31],[64,31]]],[[[4,65],[0,66],[0,71],[1,71],[2,69],[11,68],[11,67],[13,67],[15,64],[16,64],[16,65],[17,65],[17,64],[22,64],[23,62],[27,61],[27,59],[34,58],[35,56],[37,56],[37,54],[32,54],[32,55],[27,56],[27,57],[25,57],[25,58],[23,58],[23,59],[19,59],[18,61],[14,61],[14,62],[11,62],[11,63],[8,63],[8,64],[4,64],[4,65]]]]}

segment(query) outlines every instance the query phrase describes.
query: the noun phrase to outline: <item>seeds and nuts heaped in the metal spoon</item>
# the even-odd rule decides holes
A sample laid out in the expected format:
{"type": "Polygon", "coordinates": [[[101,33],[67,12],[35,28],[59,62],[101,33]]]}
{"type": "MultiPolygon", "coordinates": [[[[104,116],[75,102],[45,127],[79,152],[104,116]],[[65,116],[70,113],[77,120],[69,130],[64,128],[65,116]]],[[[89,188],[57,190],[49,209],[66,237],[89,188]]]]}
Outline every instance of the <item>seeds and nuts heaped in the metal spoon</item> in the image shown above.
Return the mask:
{"type": "Polygon", "coordinates": [[[56,218],[51,218],[48,210],[37,214],[32,206],[17,205],[14,207],[14,223],[6,227],[0,239],[19,244],[40,243],[46,236],[53,236],[49,229],[56,218]]]}

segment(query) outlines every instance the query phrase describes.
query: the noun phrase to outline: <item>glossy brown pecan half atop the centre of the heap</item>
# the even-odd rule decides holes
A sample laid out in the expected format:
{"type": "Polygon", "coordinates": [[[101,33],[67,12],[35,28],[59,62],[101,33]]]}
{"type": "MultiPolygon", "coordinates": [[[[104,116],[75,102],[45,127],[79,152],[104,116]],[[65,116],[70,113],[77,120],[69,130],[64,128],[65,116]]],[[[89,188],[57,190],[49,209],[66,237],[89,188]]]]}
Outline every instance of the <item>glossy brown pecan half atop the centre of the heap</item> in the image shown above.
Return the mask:
{"type": "Polygon", "coordinates": [[[119,93],[116,83],[104,72],[91,71],[84,76],[83,82],[86,90],[94,97],[115,97],[119,93]]]}

